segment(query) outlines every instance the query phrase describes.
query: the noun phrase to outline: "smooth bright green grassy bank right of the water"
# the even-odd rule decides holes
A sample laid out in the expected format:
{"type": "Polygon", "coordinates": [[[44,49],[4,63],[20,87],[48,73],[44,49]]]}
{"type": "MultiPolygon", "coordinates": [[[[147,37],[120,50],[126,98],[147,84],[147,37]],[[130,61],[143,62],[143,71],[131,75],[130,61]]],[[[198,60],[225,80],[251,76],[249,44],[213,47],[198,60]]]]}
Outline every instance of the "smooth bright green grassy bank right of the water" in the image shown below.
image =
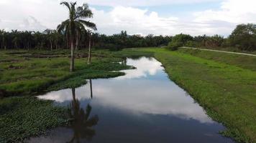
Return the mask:
{"type": "Polygon", "coordinates": [[[227,127],[224,135],[237,142],[256,142],[254,57],[211,51],[138,50],[154,52],[170,79],[227,127]]]}

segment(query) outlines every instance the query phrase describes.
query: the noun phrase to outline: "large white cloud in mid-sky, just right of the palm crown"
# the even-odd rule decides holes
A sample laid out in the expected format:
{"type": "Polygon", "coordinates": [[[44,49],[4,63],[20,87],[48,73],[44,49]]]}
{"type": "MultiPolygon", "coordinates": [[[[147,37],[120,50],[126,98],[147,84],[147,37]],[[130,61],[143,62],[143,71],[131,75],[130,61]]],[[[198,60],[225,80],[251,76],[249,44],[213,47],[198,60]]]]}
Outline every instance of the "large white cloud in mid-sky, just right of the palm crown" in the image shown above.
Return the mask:
{"type": "Polygon", "coordinates": [[[163,18],[155,11],[132,7],[116,6],[112,11],[104,12],[93,9],[94,19],[99,31],[105,34],[127,30],[129,34],[171,34],[177,17],[163,18]],[[148,14],[149,13],[149,14],[148,14]]]}

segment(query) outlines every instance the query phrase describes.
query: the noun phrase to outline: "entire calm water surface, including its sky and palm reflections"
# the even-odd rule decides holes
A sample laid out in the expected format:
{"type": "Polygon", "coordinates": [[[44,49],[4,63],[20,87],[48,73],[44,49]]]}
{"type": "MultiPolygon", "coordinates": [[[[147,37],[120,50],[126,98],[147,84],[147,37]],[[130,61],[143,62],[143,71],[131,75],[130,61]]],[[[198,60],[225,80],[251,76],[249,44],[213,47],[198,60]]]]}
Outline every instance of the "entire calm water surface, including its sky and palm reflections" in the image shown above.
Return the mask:
{"type": "Polygon", "coordinates": [[[125,76],[88,80],[77,89],[39,96],[68,106],[68,127],[29,142],[232,142],[154,58],[127,59],[125,76]]]}

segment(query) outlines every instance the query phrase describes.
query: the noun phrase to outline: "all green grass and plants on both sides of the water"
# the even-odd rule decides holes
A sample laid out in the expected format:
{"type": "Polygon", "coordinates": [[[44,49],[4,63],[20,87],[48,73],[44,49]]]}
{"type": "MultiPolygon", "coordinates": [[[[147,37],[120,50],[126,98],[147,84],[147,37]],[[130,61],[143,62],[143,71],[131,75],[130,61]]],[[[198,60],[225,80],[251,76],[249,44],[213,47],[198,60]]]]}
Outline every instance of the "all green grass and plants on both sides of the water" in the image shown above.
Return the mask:
{"type": "Polygon", "coordinates": [[[70,74],[68,53],[1,52],[0,89],[15,97],[0,101],[0,142],[5,139],[15,142],[67,123],[65,109],[53,107],[52,102],[41,101],[31,95],[79,87],[86,83],[84,79],[122,75],[122,72],[113,70],[131,67],[116,61],[125,56],[142,55],[155,56],[161,61],[170,79],[186,89],[213,119],[227,127],[224,135],[233,137],[237,142],[256,142],[255,57],[191,49],[126,49],[94,51],[93,63],[87,65],[86,53],[80,51],[76,58],[76,71],[70,74]],[[46,122],[38,122],[40,119],[46,122]]]}

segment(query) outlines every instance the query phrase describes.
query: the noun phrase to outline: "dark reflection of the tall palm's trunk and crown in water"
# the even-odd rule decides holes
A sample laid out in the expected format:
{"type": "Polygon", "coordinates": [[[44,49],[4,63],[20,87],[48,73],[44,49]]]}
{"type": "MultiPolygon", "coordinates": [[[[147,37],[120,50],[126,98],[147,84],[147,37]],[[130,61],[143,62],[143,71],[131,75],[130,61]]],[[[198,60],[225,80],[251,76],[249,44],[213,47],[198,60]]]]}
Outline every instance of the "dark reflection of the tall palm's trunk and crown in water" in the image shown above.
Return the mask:
{"type": "Polygon", "coordinates": [[[95,130],[91,127],[95,126],[99,117],[97,115],[89,117],[91,114],[91,105],[88,104],[86,112],[80,107],[80,102],[76,99],[76,91],[72,89],[73,101],[68,108],[68,114],[73,121],[70,128],[73,129],[73,138],[70,142],[80,142],[80,139],[86,139],[90,141],[96,134],[95,130]]]}

